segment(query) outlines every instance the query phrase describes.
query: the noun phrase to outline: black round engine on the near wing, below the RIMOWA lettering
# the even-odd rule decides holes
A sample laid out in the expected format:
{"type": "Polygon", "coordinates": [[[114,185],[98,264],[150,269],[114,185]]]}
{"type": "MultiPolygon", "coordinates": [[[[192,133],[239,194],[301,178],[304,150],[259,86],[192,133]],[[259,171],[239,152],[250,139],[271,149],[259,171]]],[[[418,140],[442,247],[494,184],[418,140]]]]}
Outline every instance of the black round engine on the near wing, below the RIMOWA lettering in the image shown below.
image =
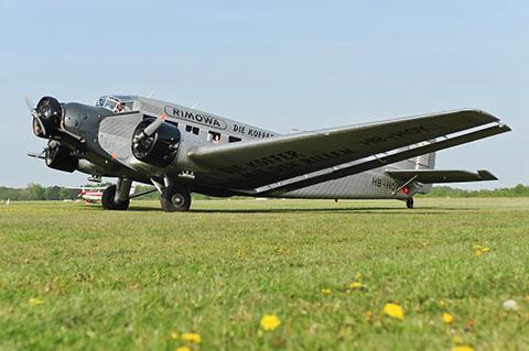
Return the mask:
{"type": "Polygon", "coordinates": [[[150,136],[143,130],[155,119],[144,119],[134,130],[132,136],[132,154],[136,158],[158,167],[166,167],[176,155],[181,139],[180,130],[171,123],[163,123],[150,136]]]}

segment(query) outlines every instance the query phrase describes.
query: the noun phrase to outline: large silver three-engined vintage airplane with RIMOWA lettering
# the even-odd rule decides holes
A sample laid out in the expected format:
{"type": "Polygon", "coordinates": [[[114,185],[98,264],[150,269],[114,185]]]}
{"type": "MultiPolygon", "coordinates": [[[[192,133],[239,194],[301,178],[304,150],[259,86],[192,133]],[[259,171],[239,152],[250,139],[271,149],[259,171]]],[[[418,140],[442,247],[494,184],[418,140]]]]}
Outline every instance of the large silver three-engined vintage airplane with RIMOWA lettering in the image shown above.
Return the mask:
{"type": "Polygon", "coordinates": [[[117,184],[102,208],[126,210],[132,182],[153,185],[161,208],[187,211],[191,194],[316,199],[398,199],[432,184],[497,179],[488,171],[434,169],[435,152],[510,131],[496,117],[462,109],[280,134],[141,96],[106,95],[95,106],[26,98],[40,154],[51,168],[117,184]]]}

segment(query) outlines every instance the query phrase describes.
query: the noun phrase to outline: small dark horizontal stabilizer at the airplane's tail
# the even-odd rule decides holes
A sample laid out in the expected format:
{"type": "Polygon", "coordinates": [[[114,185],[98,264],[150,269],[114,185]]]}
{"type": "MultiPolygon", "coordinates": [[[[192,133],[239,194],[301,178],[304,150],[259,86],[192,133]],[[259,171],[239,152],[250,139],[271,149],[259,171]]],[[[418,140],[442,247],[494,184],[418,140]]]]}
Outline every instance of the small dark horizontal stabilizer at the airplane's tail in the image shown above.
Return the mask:
{"type": "Polygon", "coordinates": [[[482,182],[497,180],[488,171],[477,171],[477,173],[468,171],[443,171],[443,169],[391,169],[386,171],[390,177],[403,182],[413,179],[425,184],[432,183],[461,183],[461,182],[482,182]]]}

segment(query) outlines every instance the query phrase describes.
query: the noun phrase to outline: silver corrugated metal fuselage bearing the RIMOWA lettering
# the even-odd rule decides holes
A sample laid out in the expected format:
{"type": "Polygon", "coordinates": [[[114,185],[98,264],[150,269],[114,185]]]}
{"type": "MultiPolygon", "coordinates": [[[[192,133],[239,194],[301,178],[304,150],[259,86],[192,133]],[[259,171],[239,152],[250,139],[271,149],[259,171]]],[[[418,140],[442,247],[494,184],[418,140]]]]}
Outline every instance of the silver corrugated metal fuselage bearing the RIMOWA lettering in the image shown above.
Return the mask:
{"type": "MultiPolygon", "coordinates": [[[[99,141],[107,152],[116,154],[116,157],[125,164],[133,165],[138,171],[152,175],[160,175],[175,178],[175,182],[188,184],[196,193],[215,193],[215,174],[198,174],[195,179],[179,179],[177,175],[188,168],[186,153],[193,147],[212,144],[226,144],[231,142],[245,142],[280,135],[255,125],[240,123],[235,120],[215,116],[192,108],[143,97],[128,97],[133,101],[133,111],[130,112],[128,123],[123,123],[123,114],[109,117],[101,122],[99,129],[99,141]],[[136,112],[136,113],[134,113],[136,112]],[[165,114],[168,121],[177,124],[182,133],[182,143],[175,161],[164,169],[156,169],[151,165],[134,160],[130,152],[130,140],[138,122],[145,117],[165,114]],[[218,135],[218,140],[214,140],[218,135]],[[193,187],[193,184],[196,187],[193,187]],[[209,185],[210,186],[209,186],[209,185]]],[[[126,113],[127,114],[127,113],[126,113]]],[[[395,164],[393,166],[413,168],[414,164],[395,164]]],[[[404,162],[406,163],[406,162],[404,162]]],[[[141,179],[139,179],[141,182],[141,179]]],[[[385,174],[384,168],[376,168],[344,178],[328,180],[305,188],[267,194],[267,197],[282,198],[317,198],[317,199],[406,199],[411,194],[397,191],[401,182],[398,182],[385,174]]],[[[424,193],[429,188],[413,188],[414,193],[424,193]]],[[[245,195],[236,189],[227,191],[228,195],[245,195]]],[[[246,193],[249,194],[249,193],[246,193]]]]}

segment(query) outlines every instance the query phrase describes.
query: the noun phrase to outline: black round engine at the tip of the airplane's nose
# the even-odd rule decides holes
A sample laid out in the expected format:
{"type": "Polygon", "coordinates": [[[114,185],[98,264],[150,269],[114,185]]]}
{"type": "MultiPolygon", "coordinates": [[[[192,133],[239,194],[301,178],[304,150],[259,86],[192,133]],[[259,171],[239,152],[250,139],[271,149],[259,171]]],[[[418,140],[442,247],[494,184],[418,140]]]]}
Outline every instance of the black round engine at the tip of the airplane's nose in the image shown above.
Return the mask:
{"type": "Polygon", "coordinates": [[[36,136],[50,139],[61,127],[63,106],[57,99],[43,97],[33,110],[33,132],[36,136]]]}

